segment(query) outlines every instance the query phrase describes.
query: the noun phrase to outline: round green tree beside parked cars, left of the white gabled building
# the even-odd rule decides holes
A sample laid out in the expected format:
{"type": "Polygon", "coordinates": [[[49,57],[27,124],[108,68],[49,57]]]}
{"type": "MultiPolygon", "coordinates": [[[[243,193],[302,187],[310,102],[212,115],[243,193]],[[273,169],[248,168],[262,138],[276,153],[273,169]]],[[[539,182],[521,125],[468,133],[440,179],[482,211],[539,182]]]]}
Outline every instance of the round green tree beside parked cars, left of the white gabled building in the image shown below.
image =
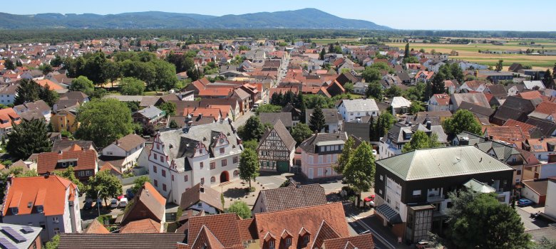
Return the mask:
{"type": "Polygon", "coordinates": [[[95,176],[89,177],[88,185],[87,196],[93,199],[101,198],[105,206],[107,199],[122,195],[122,183],[108,170],[99,171],[95,176]]]}

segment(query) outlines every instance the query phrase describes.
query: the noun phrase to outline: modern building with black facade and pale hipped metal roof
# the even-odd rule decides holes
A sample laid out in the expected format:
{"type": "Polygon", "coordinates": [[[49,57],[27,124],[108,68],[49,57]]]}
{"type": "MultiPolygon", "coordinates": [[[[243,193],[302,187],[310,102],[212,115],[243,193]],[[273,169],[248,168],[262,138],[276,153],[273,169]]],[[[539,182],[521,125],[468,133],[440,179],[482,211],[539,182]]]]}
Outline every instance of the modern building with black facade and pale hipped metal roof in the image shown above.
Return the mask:
{"type": "Polygon", "coordinates": [[[483,185],[509,203],[513,171],[473,146],[417,149],[376,161],[375,213],[407,243],[442,234],[448,193],[483,185]]]}

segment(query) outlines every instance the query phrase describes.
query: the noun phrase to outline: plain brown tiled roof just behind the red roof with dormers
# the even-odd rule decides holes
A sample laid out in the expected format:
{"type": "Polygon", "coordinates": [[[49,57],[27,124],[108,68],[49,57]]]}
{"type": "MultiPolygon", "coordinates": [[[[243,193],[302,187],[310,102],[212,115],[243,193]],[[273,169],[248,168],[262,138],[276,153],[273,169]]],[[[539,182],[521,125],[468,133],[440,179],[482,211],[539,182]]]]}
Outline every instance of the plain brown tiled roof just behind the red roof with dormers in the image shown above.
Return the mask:
{"type": "Polygon", "coordinates": [[[319,184],[266,189],[259,192],[257,201],[259,198],[268,212],[326,204],[324,188],[319,184]]]}

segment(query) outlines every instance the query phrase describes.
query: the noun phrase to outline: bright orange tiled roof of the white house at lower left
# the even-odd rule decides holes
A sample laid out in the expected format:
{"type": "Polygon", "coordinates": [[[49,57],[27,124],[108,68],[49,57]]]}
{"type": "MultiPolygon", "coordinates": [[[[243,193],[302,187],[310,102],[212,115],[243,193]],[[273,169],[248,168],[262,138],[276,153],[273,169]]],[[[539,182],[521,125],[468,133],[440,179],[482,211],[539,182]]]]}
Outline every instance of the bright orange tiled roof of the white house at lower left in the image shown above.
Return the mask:
{"type": "Polygon", "coordinates": [[[11,208],[18,208],[19,215],[36,213],[36,206],[43,206],[45,216],[62,215],[67,201],[75,198],[76,188],[76,184],[56,175],[13,178],[2,214],[13,215],[11,208]],[[66,196],[68,189],[70,195],[66,196]]]}

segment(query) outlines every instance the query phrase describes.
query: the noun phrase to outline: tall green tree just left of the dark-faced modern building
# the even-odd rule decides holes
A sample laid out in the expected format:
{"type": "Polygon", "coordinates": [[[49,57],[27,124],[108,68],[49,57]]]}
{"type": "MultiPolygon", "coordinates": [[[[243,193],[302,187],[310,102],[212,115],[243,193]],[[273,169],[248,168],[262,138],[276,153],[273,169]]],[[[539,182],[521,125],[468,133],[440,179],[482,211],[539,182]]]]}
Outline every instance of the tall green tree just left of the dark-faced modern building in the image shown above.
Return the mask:
{"type": "Polygon", "coordinates": [[[356,157],[352,157],[344,169],[344,178],[359,196],[356,204],[356,206],[359,206],[361,192],[369,191],[374,186],[373,148],[368,142],[363,142],[355,149],[354,155],[356,157]]]}

